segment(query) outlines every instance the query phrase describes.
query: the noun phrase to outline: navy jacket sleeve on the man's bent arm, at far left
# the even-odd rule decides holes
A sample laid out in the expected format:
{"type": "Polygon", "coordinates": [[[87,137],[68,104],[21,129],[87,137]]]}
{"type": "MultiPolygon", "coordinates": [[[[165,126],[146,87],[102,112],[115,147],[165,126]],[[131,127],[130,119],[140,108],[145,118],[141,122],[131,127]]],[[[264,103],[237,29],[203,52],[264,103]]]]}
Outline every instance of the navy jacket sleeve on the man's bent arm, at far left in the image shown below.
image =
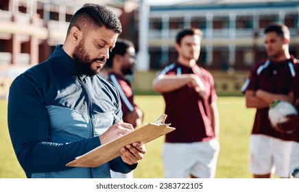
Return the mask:
{"type": "Polygon", "coordinates": [[[65,165],[98,147],[99,138],[49,142],[49,117],[42,86],[30,78],[29,75],[17,77],[8,97],[8,128],[16,157],[27,174],[71,169],[65,165]]]}

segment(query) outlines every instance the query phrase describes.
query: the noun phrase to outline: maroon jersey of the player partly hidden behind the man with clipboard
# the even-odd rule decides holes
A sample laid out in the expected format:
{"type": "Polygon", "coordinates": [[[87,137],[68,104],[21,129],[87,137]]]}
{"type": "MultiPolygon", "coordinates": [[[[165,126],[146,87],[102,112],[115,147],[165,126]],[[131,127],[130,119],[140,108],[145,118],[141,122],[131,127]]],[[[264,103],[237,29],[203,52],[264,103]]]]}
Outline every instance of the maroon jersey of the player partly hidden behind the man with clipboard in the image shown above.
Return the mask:
{"type": "Polygon", "coordinates": [[[138,108],[134,104],[134,95],[130,83],[125,80],[121,75],[117,73],[109,73],[108,80],[115,84],[117,91],[119,91],[119,97],[121,98],[121,110],[123,115],[128,112],[132,112],[135,108],[138,108]]]}

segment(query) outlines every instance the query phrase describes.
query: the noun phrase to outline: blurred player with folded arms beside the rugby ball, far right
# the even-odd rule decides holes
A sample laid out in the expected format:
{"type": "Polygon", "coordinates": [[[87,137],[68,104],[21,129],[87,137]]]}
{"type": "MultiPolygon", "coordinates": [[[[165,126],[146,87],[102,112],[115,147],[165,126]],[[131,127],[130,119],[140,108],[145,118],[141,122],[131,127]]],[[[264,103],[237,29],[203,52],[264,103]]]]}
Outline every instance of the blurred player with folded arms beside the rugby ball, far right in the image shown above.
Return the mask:
{"type": "Polygon", "coordinates": [[[242,91],[246,107],[256,108],[250,136],[250,171],[254,178],[289,177],[291,141],[299,141],[296,134],[286,134],[272,128],[268,119],[269,105],[274,99],[294,104],[298,88],[294,78],[299,64],[289,54],[290,34],[287,26],[273,23],[264,30],[267,60],[254,64],[242,91]]]}

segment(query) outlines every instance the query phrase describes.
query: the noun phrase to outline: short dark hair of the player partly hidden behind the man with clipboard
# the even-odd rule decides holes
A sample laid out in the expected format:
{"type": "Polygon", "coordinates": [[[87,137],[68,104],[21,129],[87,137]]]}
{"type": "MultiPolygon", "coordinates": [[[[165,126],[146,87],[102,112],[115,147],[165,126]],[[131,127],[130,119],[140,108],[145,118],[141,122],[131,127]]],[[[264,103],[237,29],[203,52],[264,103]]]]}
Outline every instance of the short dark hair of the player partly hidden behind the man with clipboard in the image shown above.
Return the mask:
{"type": "Polygon", "coordinates": [[[125,53],[127,53],[129,47],[134,47],[134,44],[130,40],[125,40],[121,38],[117,39],[117,42],[115,43],[115,47],[109,53],[109,58],[106,61],[105,66],[112,67],[112,62],[113,62],[113,58],[115,58],[115,55],[124,56],[125,53]]]}

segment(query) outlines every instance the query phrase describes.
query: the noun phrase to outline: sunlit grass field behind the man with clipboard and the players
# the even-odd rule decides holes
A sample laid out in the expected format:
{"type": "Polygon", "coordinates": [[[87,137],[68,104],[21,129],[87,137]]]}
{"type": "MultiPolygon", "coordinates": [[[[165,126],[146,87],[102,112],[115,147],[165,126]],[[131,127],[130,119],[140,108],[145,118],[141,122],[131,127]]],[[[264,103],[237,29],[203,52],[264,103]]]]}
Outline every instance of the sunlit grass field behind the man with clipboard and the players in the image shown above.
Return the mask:
{"type": "MultiPolygon", "coordinates": [[[[137,95],[144,123],[156,121],[164,111],[160,95],[137,95]]],[[[216,178],[252,178],[248,172],[248,139],[254,110],[245,108],[243,97],[219,97],[220,154],[216,178]]],[[[163,178],[163,137],[146,144],[147,154],[134,171],[135,178],[163,178]]],[[[7,127],[7,101],[0,100],[0,178],[25,178],[16,160],[7,127]]]]}

